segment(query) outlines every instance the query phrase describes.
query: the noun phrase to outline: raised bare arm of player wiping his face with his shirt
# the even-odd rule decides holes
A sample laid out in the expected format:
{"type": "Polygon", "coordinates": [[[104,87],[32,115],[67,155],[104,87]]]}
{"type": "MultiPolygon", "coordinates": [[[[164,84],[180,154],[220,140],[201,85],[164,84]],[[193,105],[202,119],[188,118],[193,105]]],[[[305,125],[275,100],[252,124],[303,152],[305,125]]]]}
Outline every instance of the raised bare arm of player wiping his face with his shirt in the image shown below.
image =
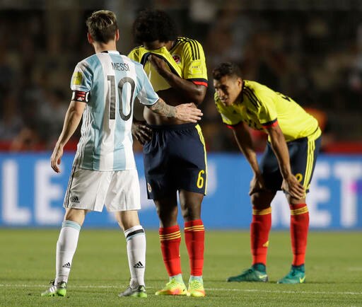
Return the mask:
{"type": "Polygon", "coordinates": [[[206,86],[199,86],[192,83],[191,81],[180,78],[171,71],[168,71],[165,61],[156,55],[151,54],[148,59],[158,71],[158,74],[163,76],[163,78],[168,81],[168,84],[170,84],[172,88],[180,91],[195,105],[202,103],[206,95],[206,86]]]}

